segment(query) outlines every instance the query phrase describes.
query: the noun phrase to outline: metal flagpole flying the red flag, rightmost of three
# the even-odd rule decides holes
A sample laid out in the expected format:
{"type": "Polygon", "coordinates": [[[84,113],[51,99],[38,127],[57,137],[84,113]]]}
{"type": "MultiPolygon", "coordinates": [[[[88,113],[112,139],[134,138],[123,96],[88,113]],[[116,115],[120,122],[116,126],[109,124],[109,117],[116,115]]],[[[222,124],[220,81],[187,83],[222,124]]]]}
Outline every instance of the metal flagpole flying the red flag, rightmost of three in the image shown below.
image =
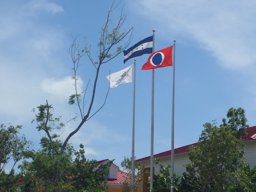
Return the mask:
{"type": "Polygon", "coordinates": [[[172,171],[171,171],[171,192],[173,192],[173,173],[174,173],[174,87],[175,87],[175,42],[173,41],[173,110],[172,110],[172,154],[171,154],[171,162],[172,162],[172,171]]]}

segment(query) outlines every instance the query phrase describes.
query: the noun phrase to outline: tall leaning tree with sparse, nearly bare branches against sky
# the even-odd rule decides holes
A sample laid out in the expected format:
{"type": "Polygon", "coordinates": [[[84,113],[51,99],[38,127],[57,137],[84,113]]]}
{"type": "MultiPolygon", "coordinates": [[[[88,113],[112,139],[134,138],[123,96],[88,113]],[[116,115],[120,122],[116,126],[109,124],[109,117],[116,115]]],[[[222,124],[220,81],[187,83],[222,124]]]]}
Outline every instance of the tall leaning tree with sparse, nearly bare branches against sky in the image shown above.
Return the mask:
{"type": "MultiPolygon", "coordinates": [[[[120,4],[120,2],[117,4],[117,6],[119,4],[120,4]]],[[[78,98],[77,89],[76,89],[76,102],[78,104],[80,114],[82,116],[82,121],[76,127],[76,129],[74,131],[69,133],[69,135],[67,136],[67,138],[63,142],[60,154],[63,154],[69,139],[80,130],[80,128],[83,126],[83,124],[87,120],[89,120],[96,113],[98,113],[106,103],[110,86],[108,87],[108,92],[106,93],[106,96],[104,98],[104,102],[103,102],[102,106],[98,110],[96,110],[95,113],[93,113],[90,116],[91,110],[92,110],[92,107],[93,107],[93,103],[94,103],[94,100],[95,100],[95,92],[96,92],[96,87],[97,87],[96,85],[97,85],[97,81],[98,81],[100,66],[103,63],[106,63],[106,62],[110,61],[111,59],[115,58],[117,55],[119,55],[125,48],[127,48],[128,44],[130,43],[130,41],[132,39],[132,34],[130,34],[130,37],[128,38],[128,42],[126,42],[124,47],[119,46],[119,47],[116,48],[115,51],[111,52],[113,46],[116,46],[117,44],[119,44],[128,35],[128,33],[131,33],[132,30],[133,30],[133,28],[131,28],[128,31],[125,31],[125,30],[123,32],[119,31],[121,29],[121,27],[123,26],[123,24],[124,24],[124,20],[126,19],[126,16],[123,15],[122,11],[121,11],[121,17],[119,18],[119,21],[117,22],[117,25],[113,28],[113,30],[111,32],[108,32],[109,22],[111,21],[110,13],[117,6],[115,6],[115,1],[113,1],[109,11],[107,12],[107,18],[106,18],[105,24],[102,26],[102,31],[101,31],[101,34],[100,34],[100,42],[98,43],[98,47],[99,47],[98,62],[94,61],[93,57],[91,56],[91,44],[88,46],[88,42],[86,41],[86,37],[85,37],[85,49],[82,50],[82,53],[85,52],[85,54],[90,59],[91,63],[93,63],[93,65],[96,68],[96,75],[95,75],[94,82],[93,82],[93,90],[92,90],[92,94],[91,94],[91,100],[89,101],[89,106],[88,106],[88,109],[87,109],[87,113],[85,114],[84,113],[84,105],[85,105],[84,98],[85,98],[85,95],[83,97],[83,109],[81,109],[80,95],[79,95],[79,98],[78,98]]],[[[83,54],[79,51],[78,46],[76,46],[76,39],[77,39],[77,37],[74,38],[73,44],[70,47],[70,56],[72,57],[72,61],[73,61],[73,64],[74,64],[73,70],[74,70],[75,88],[77,88],[76,87],[76,80],[77,80],[76,79],[76,70],[78,69],[80,58],[83,56],[83,54]],[[78,53],[77,55],[75,54],[76,52],[78,53]]],[[[87,84],[87,87],[88,87],[88,85],[89,85],[89,82],[87,84]]],[[[85,89],[85,92],[87,90],[87,87],[85,89]]],[[[84,94],[85,94],[85,92],[84,92],[84,94]]],[[[54,187],[56,187],[58,185],[59,175],[60,175],[60,169],[58,168],[57,169],[57,174],[56,174],[56,177],[55,177],[55,180],[54,180],[54,187]]]]}

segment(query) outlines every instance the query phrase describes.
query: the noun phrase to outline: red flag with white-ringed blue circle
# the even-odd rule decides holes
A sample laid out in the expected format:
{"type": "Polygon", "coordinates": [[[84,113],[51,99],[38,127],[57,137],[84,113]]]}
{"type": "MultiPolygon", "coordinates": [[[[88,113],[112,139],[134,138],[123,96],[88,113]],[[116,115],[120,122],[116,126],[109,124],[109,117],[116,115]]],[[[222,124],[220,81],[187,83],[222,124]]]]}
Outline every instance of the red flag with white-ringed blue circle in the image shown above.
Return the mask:
{"type": "Polygon", "coordinates": [[[148,62],[142,66],[142,70],[155,69],[165,66],[173,66],[173,46],[154,52],[148,58],[148,62]]]}

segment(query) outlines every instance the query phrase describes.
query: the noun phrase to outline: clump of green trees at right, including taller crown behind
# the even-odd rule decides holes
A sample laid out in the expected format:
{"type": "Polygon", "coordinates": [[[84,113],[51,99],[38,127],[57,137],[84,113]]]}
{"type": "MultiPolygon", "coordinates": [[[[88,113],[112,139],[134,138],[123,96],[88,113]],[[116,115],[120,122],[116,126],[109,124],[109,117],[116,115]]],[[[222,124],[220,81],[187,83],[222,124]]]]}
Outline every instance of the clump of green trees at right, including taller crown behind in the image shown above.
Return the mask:
{"type": "Polygon", "coordinates": [[[241,136],[249,126],[241,108],[230,108],[227,117],[228,122],[223,119],[219,127],[215,121],[204,124],[198,146],[189,147],[191,163],[186,164],[187,173],[183,174],[183,191],[224,192],[232,178],[238,179],[241,175],[241,170],[237,172],[244,159],[241,136]]]}

